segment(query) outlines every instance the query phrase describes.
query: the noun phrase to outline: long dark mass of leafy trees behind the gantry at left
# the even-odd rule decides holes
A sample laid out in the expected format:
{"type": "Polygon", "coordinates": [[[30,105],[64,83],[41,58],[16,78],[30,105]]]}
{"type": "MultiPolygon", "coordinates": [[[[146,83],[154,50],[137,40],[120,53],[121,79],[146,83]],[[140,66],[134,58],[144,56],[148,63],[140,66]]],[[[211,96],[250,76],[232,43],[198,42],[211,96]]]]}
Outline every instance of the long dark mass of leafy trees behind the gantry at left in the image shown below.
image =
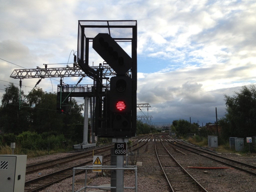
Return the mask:
{"type": "MultiPolygon", "coordinates": [[[[33,89],[26,97],[10,83],[0,106],[0,128],[5,133],[19,134],[23,131],[72,134],[73,124],[83,124],[83,105],[72,98],[71,114],[56,113],[57,94],[33,89]],[[20,107],[19,107],[20,106],[20,107]]],[[[70,137],[70,136],[69,136],[70,137]]]]}

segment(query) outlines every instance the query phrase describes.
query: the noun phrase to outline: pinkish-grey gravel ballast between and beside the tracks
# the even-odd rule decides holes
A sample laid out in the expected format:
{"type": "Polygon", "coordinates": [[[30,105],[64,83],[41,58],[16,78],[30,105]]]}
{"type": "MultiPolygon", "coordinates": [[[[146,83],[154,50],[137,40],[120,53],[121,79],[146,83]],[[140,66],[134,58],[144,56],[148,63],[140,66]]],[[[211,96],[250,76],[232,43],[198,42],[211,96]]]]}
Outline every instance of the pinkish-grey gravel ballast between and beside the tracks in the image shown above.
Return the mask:
{"type": "MultiPolygon", "coordinates": [[[[139,150],[139,155],[137,157],[137,151],[134,153],[136,156],[137,162],[142,162],[142,166],[138,166],[137,169],[137,183],[138,183],[138,191],[146,192],[146,191],[169,191],[168,184],[165,180],[165,177],[162,173],[162,170],[159,166],[158,160],[155,154],[154,142],[147,142],[139,150]]],[[[49,155],[39,158],[27,159],[27,165],[35,164],[37,161],[47,161],[48,159],[60,158],[63,156],[67,156],[67,153],[59,153],[55,155],[49,155]]],[[[246,162],[248,164],[255,165],[256,157],[241,157],[237,154],[221,154],[223,156],[232,157],[233,159],[241,162],[246,162]]],[[[216,162],[209,162],[208,159],[201,158],[199,155],[188,154],[186,156],[177,154],[176,155],[178,161],[186,166],[208,166],[208,167],[216,167],[220,166],[216,164],[216,162]]],[[[223,166],[223,165],[222,165],[223,166]]],[[[188,170],[191,175],[193,175],[198,182],[207,188],[208,191],[212,192],[228,192],[228,191],[246,191],[246,192],[255,192],[256,187],[256,177],[239,170],[229,168],[229,169],[216,169],[216,170],[201,170],[201,169],[189,169],[188,170]],[[207,173],[206,173],[206,172],[207,173]]],[[[106,176],[99,176],[95,178],[96,173],[91,173],[88,171],[87,178],[92,178],[91,182],[88,184],[90,186],[98,186],[103,184],[110,184],[110,171],[105,172],[106,176]]],[[[36,175],[36,174],[35,174],[36,175]]],[[[133,187],[135,181],[134,171],[125,171],[124,173],[124,186],[133,187]]],[[[84,174],[78,175],[75,177],[76,180],[84,179],[84,174]]],[[[27,178],[26,178],[27,180],[27,178]]],[[[181,184],[182,185],[182,184],[181,184]]],[[[82,184],[75,185],[75,191],[82,188],[82,184]]],[[[63,191],[63,192],[71,192],[72,191],[72,178],[68,178],[63,180],[58,184],[54,184],[50,187],[42,190],[43,192],[54,192],[54,191],[63,191]]],[[[106,191],[102,189],[92,189],[88,188],[86,191],[106,191]]],[[[109,190],[110,191],[110,190],[109,190]]],[[[130,192],[135,191],[133,189],[124,189],[124,191],[130,192]]]]}

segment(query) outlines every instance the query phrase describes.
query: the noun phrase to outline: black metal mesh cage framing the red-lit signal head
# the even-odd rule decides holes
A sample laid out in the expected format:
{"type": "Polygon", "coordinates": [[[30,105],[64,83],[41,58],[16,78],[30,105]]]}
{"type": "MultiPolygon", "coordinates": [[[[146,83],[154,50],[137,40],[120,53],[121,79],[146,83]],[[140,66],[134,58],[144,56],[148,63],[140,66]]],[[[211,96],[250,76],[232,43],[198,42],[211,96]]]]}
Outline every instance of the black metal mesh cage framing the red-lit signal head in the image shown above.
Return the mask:
{"type": "MultiPolygon", "coordinates": [[[[78,64],[83,69],[83,71],[87,74],[87,76],[91,76],[94,80],[95,88],[100,88],[102,86],[100,80],[98,80],[98,84],[96,83],[97,77],[100,75],[100,69],[94,72],[93,68],[89,66],[89,46],[90,42],[93,41],[94,37],[99,33],[107,33],[109,34],[115,41],[117,42],[128,42],[125,45],[131,46],[131,59],[132,66],[126,74],[129,76],[132,83],[132,115],[129,118],[132,118],[131,127],[132,130],[126,132],[120,132],[119,136],[125,134],[126,136],[135,135],[136,132],[136,89],[137,89],[137,21],[136,20],[79,20],[78,21],[78,64]]],[[[101,64],[100,64],[101,65],[101,64]]],[[[104,69],[108,66],[108,70],[115,73],[114,70],[110,67],[108,63],[103,62],[104,69]]],[[[102,72],[103,72],[102,71],[102,72]]],[[[102,78],[101,76],[98,79],[102,78]]],[[[103,78],[102,78],[103,79],[103,78]]],[[[107,110],[106,103],[108,99],[103,99],[102,97],[107,97],[108,94],[108,86],[104,86],[105,94],[102,96],[99,90],[95,90],[95,94],[93,94],[93,104],[92,111],[92,127],[95,130],[96,135],[101,135],[102,137],[113,137],[112,134],[116,134],[114,132],[110,132],[106,134],[106,129],[110,129],[108,115],[104,112],[102,107],[104,107],[105,111],[107,110]],[[102,103],[103,101],[103,103],[102,103]],[[102,105],[103,104],[103,105],[102,105]],[[104,133],[103,133],[104,132],[104,133]]],[[[115,135],[117,136],[117,135],[115,135]]]]}

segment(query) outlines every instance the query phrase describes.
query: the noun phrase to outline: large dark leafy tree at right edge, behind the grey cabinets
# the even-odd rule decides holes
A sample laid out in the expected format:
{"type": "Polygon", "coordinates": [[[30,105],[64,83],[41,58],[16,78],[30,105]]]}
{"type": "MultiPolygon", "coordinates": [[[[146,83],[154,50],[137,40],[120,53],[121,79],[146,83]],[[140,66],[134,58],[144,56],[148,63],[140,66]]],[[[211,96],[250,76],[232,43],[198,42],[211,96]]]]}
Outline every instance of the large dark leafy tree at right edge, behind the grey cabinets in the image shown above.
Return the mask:
{"type": "Polygon", "coordinates": [[[256,135],[256,87],[242,86],[233,97],[224,94],[227,113],[222,124],[229,136],[248,137],[256,135]],[[227,126],[228,124],[228,126],[227,126]]]}

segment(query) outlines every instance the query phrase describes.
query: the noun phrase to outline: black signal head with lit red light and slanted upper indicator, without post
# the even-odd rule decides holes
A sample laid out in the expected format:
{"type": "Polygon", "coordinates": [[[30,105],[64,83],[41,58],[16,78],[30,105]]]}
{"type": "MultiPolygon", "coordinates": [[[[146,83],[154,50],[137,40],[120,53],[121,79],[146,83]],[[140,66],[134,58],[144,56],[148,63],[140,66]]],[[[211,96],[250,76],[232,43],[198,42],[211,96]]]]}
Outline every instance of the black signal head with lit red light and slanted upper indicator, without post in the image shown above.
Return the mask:
{"type": "Polygon", "coordinates": [[[132,58],[106,33],[99,33],[93,38],[92,48],[116,72],[116,76],[110,79],[110,91],[106,96],[108,102],[104,103],[108,117],[104,125],[106,126],[105,132],[102,129],[97,131],[97,134],[100,137],[134,136],[136,124],[132,128],[132,119],[136,121],[136,111],[133,113],[135,118],[132,118],[132,109],[136,109],[136,106],[133,108],[133,103],[136,104],[136,97],[133,97],[132,93],[136,78],[133,80],[131,76],[128,76],[128,71],[132,68],[132,58]]]}

